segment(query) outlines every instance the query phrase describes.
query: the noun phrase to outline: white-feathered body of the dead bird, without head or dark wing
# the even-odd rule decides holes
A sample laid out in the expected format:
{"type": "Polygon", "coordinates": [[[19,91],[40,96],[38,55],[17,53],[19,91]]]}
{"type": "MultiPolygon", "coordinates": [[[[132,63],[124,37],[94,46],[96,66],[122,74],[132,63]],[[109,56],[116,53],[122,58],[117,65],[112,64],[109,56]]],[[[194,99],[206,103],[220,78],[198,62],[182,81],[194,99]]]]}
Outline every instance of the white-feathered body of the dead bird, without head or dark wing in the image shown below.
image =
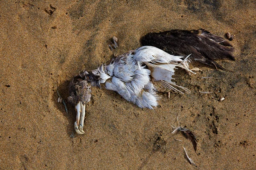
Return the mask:
{"type": "MultiPolygon", "coordinates": [[[[185,62],[187,64],[187,59],[188,57],[173,56],[151,46],[137,48],[135,51],[129,51],[119,58],[113,59],[111,64],[106,66],[106,73],[112,77],[112,82],[106,82],[105,87],[108,90],[116,91],[124,99],[133,102],[140,108],[153,109],[158,105],[159,97],[154,85],[150,82],[149,75],[154,78],[154,81],[159,81],[161,85],[170,90],[183,94],[175,88],[178,87],[189,92],[188,89],[172,82],[175,68],[180,67],[191,71],[187,65],[184,65],[185,62]],[[148,69],[143,63],[147,65],[148,69]]],[[[101,78],[105,80],[108,75],[102,75],[101,78]]]]}

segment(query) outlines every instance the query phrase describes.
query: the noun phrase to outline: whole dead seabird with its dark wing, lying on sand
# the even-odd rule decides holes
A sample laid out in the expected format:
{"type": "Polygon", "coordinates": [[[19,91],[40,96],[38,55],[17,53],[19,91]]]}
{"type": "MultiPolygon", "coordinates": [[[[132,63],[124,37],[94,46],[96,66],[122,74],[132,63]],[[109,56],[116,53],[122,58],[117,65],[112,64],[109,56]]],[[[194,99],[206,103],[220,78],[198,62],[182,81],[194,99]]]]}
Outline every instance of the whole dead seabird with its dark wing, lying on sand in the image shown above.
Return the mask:
{"type": "MultiPolygon", "coordinates": [[[[168,43],[164,42],[163,46],[157,46],[157,38],[155,46],[164,50],[171,49],[172,51],[166,51],[177,55],[169,54],[153,46],[142,46],[114,57],[109,64],[102,64],[95,70],[83,71],[72,79],[68,101],[76,108],[75,130],[77,133],[84,133],[85,105],[90,101],[90,85],[101,88],[101,84],[105,83],[106,89],[116,91],[138,107],[153,109],[158,105],[157,92],[159,91],[190,93],[189,89],[172,82],[175,68],[183,68],[194,74],[194,69],[189,68],[189,62],[192,60],[222,68],[213,60],[233,59],[232,45],[208,31],[174,30],[171,32],[177,32],[176,35],[173,33],[172,41],[168,40],[171,46],[166,46],[168,43]],[[180,43],[183,44],[184,49],[180,43]]],[[[145,37],[142,40],[143,43],[146,42],[145,37]]],[[[151,41],[154,42],[149,38],[148,42],[151,41]]]]}

